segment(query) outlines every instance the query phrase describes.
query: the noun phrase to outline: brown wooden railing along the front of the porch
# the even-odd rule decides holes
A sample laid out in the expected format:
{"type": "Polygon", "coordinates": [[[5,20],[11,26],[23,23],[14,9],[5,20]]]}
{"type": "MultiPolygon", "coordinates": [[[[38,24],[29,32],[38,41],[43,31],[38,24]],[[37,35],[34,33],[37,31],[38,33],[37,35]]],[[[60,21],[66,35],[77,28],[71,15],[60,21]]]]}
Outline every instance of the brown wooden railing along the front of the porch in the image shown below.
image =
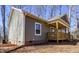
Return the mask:
{"type": "Polygon", "coordinates": [[[47,33],[48,40],[66,40],[70,39],[70,34],[69,33],[63,33],[63,32],[48,32],[47,33]]]}

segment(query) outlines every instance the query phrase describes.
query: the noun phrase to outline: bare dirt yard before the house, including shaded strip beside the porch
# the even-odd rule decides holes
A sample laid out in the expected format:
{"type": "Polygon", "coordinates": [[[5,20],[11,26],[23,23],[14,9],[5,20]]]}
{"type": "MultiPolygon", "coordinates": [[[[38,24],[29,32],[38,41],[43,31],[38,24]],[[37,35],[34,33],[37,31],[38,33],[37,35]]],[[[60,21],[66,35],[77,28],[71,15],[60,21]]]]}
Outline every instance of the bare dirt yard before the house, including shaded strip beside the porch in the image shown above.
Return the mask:
{"type": "Polygon", "coordinates": [[[12,51],[12,53],[78,53],[79,41],[60,41],[59,44],[56,42],[49,42],[48,44],[24,46],[20,49],[12,51]]]}

